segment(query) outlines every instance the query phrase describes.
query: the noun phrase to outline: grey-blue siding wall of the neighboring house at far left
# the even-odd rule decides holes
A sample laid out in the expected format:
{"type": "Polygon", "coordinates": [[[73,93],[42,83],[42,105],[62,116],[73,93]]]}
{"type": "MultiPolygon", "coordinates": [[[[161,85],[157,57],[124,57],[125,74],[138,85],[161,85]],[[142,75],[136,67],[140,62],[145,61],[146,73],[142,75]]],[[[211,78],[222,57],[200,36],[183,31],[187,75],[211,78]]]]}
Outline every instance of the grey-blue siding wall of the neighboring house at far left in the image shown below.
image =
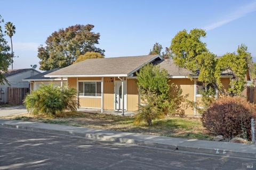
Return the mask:
{"type": "Polygon", "coordinates": [[[6,103],[8,102],[8,87],[23,87],[23,88],[29,88],[29,82],[23,81],[22,79],[37,75],[38,72],[34,71],[34,70],[28,70],[25,72],[21,72],[19,74],[13,75],[13,76],[9,76],[6,77],[6,79],[8,80],[9,84],[4,84],[4,85],[0,85],[0,89],[2,88],[2,90],[4,91],[4,94],[2,96],[2,99],[0,100],[0,102],[2,103],[6,103]]]}

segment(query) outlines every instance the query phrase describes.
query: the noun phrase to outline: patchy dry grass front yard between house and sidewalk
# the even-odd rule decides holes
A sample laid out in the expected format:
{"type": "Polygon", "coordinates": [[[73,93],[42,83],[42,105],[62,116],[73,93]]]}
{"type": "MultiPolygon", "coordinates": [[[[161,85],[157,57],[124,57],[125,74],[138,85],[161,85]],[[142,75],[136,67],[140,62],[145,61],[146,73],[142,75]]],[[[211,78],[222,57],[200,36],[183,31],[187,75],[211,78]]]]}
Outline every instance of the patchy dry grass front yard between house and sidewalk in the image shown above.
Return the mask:
{"type": "Polygon", "coordinates": [[[199,118],[166,117],[162,120],[154,120],[153,126],[147,124],[135,125],[135,117],[115,116],[110,114],[92,114],[86,112],[65,112],[58,118],[45,118],[42,116],[30,116],[29,114],[6,116],[1,118],[61,124],[78,127],[90,127],[109,129],[113,131],[143,133],[150,135],[162,135],[172,137],[185,137],[188,139],[212,140],[211,135],[201,123],[199,118]]]}

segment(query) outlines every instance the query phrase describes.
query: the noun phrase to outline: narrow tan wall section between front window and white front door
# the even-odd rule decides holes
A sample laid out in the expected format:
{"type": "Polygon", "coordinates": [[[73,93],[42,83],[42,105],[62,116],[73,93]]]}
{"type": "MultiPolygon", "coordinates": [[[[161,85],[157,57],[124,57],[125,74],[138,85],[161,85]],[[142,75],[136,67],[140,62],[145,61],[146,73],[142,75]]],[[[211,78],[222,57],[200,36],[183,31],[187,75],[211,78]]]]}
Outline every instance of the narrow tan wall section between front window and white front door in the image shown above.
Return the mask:
{"type": "Polygon", "coordinates": [[[104,93],[104,109],[114,110],[114,79],[111,77],[104,77],[103,84],[103,93],[104,93]]]}

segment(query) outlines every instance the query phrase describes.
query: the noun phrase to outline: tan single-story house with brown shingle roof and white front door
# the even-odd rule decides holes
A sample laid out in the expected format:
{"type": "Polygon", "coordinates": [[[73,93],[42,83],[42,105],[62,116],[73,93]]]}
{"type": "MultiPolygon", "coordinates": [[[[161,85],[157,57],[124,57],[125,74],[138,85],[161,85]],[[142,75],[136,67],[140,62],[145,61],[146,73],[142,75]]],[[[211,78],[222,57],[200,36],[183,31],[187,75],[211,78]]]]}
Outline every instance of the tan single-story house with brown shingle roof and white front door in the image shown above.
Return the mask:
{"type": "MultiPolygon", "coordinates": [[[[140,105],[136,84],[136,72],[145,64],[159,64],[168,71],[170,83],[179,85],[182,94],[188,94],[191,101],[200,101],[203,87],[188,78],[190,72],[178,67],[173,60],[163,60],[159,55],[127,56],[117,58],[87,59],[66,68],[45,75],[45,77],[67,77],[69,87],[78,91],[77,100],[82,108],[116,111],[135,111],[140,105]]],[[[221,74],[223,88],[227,89],[231,72],[221,74]]],[[[250,77],[247,77],[250,80],[250,77]]],[[[188,108],[187,115],[196,115],[196,110],[188,108]]]]}

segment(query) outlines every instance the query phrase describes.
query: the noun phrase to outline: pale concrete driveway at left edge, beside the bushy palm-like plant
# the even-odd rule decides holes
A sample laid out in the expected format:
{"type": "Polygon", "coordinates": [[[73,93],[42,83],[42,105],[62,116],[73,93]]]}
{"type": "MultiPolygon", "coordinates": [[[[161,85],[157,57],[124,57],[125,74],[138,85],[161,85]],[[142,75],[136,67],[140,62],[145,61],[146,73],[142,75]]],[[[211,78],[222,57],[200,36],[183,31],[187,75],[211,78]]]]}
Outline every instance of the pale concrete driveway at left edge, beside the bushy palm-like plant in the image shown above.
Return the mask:
{"type": "Polygon", "coordinates": [[[11,116],[17,114],[27,113],[27,109],[23,106],[12,106],[12,107],[0,107],[0,117],[1,116],[11,116]]]}

